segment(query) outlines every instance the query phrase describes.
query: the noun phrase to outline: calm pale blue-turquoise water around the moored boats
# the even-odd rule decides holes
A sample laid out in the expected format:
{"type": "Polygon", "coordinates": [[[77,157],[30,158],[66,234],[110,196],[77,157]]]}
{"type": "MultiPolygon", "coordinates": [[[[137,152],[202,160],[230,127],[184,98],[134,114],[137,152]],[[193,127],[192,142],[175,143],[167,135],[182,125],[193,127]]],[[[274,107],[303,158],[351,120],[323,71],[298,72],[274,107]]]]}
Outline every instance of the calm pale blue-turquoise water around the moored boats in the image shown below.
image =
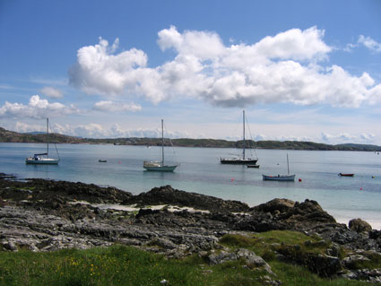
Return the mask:
{"type": "Polygon", "coordinates": [[[0,172],[20,178],[117,186],[133,194],[149,191],[154,186],[171,185],[251,206],[275,197],[299,202],[308,198],[316,200],[337,221],[348,223],[359,217],[373,228],[381,229],[381,155],[375,152],[257,150],[260,169],[247,169],[219,163],[219,157],[239,152],[235,149],[169,148],[168,162],[177,160],[181,165],[173,173],[160,173],[143,170],[143,160],[160,158],[158,147],[58,144],[61,157],[58,166],[25,165],[26,157],[44,152],[45,147],[44,144],[0,143],[0,172]],[[263,181],[262,174],[287,173],[287,153],[290,173],[296,174],[296,181],[263,181]],[[100,159],[108,162],[100,163],[100,159]],[[340,178],[337,176],[340,172],[354,173],[355,177],[340,178]]]}

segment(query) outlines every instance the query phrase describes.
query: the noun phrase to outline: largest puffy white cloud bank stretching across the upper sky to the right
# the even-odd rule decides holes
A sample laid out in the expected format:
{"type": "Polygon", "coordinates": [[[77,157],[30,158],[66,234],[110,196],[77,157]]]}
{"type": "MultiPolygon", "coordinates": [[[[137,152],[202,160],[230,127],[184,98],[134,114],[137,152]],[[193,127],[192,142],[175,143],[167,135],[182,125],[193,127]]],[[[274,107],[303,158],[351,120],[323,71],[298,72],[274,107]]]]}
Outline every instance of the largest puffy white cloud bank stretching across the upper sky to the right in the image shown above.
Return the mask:
{"type": "MultiPolygon", "coordinates": [[[[80,48],[69,70],[69,81],[88,94],[139,95],[153,103],[172,98],[196,98],[222,107],[258,103],[330,104],[354,107],[381,102],[381,84],[364,73],[349,74],[339,65],[325,65],[333,48],[324,30],[291,29],[253,44],[226,46],[212,31],[176,27],[160,30],[157,43],[174,57],[148,67],[148,56],[131,48],[117,54],[100,39],[80,48]]],[[[360,39],[359,39],[360,40],[360,39]]],[[[379,49],[377,42],[361,39],[379,49]]]]}

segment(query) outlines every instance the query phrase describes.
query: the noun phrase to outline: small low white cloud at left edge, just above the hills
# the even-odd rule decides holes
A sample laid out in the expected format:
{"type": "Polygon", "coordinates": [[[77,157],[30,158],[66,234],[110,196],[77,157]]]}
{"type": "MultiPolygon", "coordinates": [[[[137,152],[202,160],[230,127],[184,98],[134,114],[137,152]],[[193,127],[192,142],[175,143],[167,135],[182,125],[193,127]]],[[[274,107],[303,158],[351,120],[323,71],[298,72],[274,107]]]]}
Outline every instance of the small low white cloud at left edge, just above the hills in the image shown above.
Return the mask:
{"type": "Polygon", "coordinates": [[[50,116],[67,116],[79,112],[80,110],[73,104],[65,106],[59,102],[49,103],[48,100],[41,100],[39,95],[33,95],[30,97],[28,105],[5,101],[4,105],[0,108],[0,117],[40,119],[50,116]]]}

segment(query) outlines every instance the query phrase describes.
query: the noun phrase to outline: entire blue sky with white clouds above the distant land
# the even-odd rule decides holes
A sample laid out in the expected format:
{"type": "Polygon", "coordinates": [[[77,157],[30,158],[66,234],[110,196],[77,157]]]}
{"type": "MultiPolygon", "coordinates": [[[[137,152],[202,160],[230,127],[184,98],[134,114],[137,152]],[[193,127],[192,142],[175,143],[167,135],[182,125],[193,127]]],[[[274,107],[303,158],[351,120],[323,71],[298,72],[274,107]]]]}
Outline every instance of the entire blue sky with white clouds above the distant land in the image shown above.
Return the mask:
{"type": "Polygon", "coordinates": [[[0,126],[381,145],[381,1],[0,0],[0,126]]]}

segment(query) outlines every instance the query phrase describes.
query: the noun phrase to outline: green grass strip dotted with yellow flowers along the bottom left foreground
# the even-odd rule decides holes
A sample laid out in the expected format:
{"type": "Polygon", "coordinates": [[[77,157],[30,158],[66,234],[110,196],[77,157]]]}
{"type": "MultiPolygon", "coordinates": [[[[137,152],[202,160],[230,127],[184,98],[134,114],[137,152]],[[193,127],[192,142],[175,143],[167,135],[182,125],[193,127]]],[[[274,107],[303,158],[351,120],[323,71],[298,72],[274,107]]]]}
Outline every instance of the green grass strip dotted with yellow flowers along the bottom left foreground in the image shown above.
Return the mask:
{"type": "Polygon", "coordinates": [[[0,285],[260,285],[259,274],[239,262],[210,266],[198,256],[183,260],[134,247],[0,253],[0,285]],[[212,272],[210,272],[212,270],[212,272]],[[253,282],[255,282],[253,284],[253,282]]]}

